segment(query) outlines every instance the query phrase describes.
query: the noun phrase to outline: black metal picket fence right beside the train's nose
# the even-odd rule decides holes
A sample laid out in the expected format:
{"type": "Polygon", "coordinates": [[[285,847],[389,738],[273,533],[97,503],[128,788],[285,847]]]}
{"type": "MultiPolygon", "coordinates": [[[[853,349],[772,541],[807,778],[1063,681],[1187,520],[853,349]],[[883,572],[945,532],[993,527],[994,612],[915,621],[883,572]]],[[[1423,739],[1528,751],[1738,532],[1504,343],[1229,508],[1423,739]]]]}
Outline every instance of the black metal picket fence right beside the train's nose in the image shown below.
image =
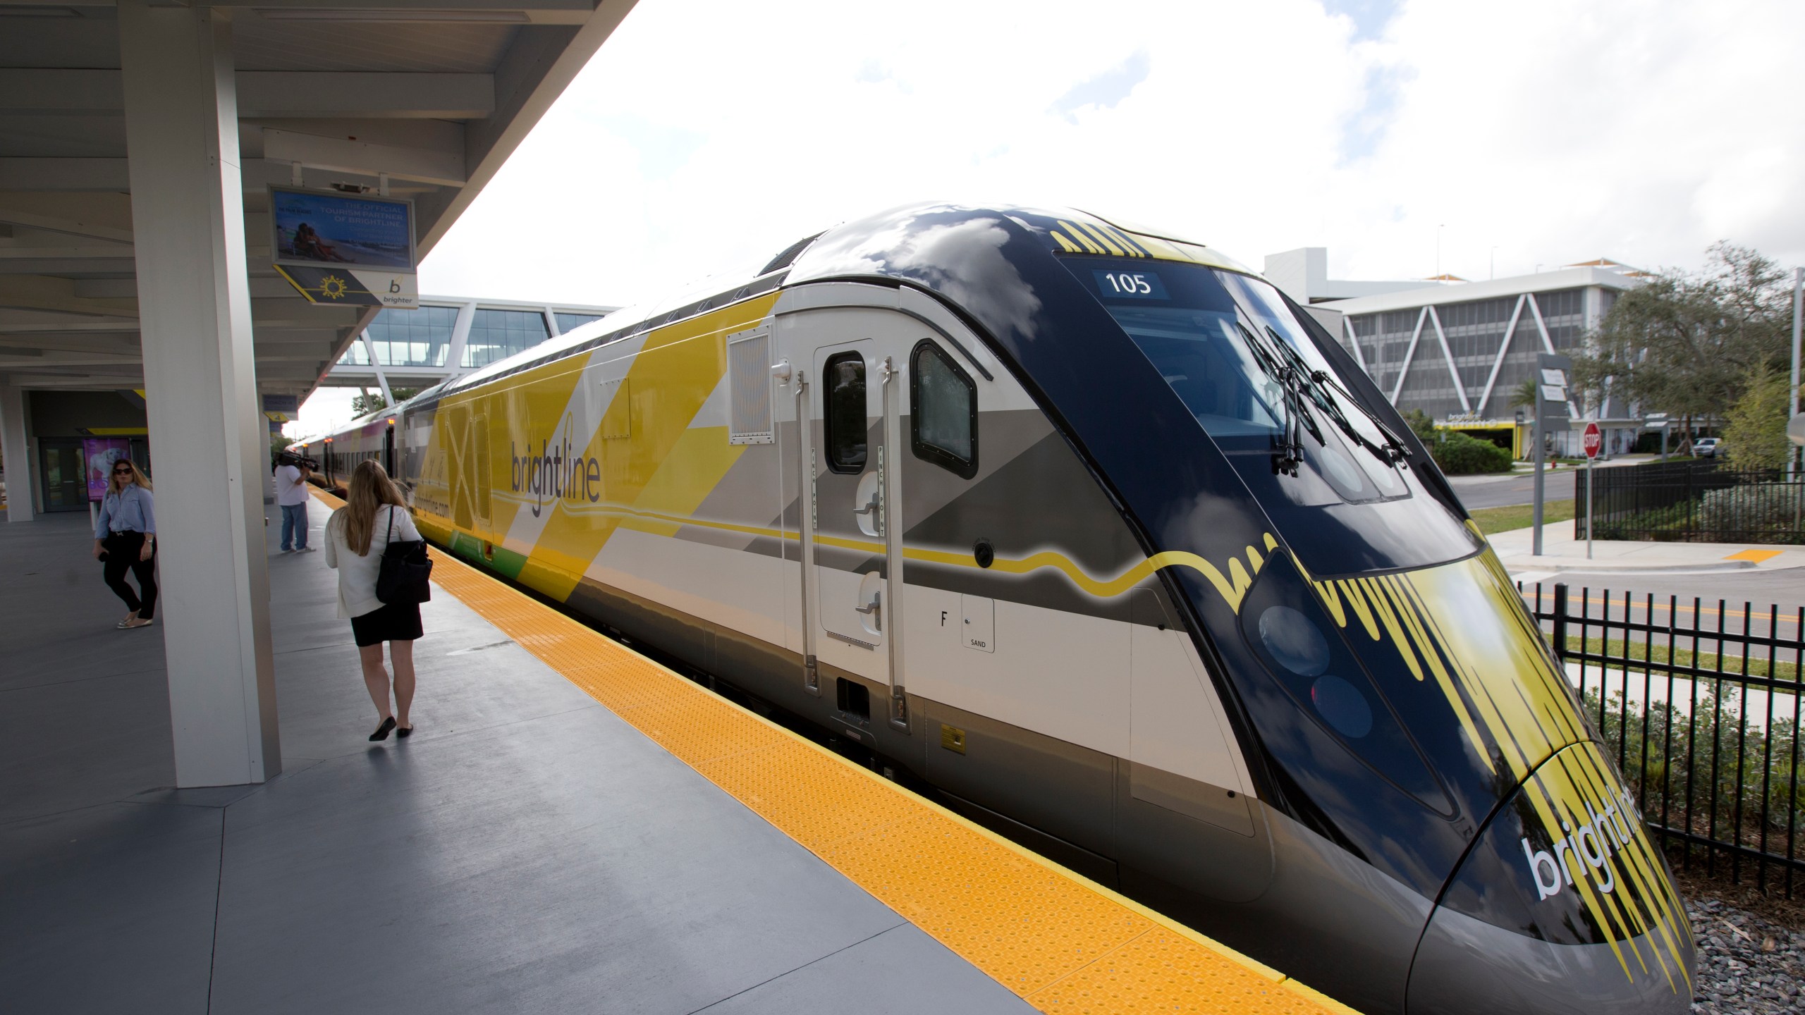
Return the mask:
{"type": "Polygon", "coordinates": [[[1565,583],[1523,598],[1668,856],[1792,898],[1805,609],[1565,583]]]}

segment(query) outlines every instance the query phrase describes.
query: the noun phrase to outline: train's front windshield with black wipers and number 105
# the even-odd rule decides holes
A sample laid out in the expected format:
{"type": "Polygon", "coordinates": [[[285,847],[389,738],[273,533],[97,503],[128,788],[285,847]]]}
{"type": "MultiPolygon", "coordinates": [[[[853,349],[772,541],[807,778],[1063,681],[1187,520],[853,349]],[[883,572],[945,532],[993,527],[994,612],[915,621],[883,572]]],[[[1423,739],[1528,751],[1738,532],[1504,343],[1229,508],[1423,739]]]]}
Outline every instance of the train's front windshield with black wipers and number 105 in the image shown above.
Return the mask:
{"type": "Polygon", "coordinates": [[[1393,437],[1345,392],[1278,291],[1245,275],[1146,260],[1067,265],[1242,473],[1282,473],[1292,504],[1410,497],[1393,437]]]}

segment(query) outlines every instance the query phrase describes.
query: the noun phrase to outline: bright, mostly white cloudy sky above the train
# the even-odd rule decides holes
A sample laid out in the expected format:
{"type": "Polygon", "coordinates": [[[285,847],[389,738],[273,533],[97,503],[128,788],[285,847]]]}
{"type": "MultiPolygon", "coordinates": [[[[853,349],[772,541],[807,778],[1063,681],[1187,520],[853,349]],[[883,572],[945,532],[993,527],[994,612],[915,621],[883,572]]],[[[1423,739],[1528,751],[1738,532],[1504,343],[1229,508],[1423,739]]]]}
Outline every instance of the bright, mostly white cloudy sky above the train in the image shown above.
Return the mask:
{"type": "Polygon", "coordinates": [[[1798,0],[639,0],[421,291],[630,305],[917,200],[1334,278],[1791,265],[1801,38],[1798,0]]]}

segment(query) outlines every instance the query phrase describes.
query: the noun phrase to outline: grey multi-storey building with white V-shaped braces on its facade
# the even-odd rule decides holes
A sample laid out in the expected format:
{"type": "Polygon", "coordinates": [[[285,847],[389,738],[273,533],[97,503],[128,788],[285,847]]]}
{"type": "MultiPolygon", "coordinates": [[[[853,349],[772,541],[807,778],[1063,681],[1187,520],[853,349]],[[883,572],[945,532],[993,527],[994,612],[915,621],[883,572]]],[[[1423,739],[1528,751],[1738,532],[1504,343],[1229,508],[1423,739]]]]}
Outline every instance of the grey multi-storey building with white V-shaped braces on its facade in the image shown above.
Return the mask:
{"type": "MultiPolygon", "coordinates": [[[[1523,453],[1513,397],[1536,354],[1578,352],[1617,296],[1641,284],[1643,273],[1599,258],[1489,282],[1417,282],[1312,311],[1318,320],[1339,311],[1341,345],[1401,412],[1421,408],[1442,426],[1486,432],[1523,453]]],[[[1576,399],[1570,412],[1599,423],[1605,453],[1628,452],[1643,426],[1637,406],[1608,390],[1601,405],[1576,399]]],[[[1579,430],[1556,433],[1554,442],[1561,453],[1579,453],[1579,430]]]]}

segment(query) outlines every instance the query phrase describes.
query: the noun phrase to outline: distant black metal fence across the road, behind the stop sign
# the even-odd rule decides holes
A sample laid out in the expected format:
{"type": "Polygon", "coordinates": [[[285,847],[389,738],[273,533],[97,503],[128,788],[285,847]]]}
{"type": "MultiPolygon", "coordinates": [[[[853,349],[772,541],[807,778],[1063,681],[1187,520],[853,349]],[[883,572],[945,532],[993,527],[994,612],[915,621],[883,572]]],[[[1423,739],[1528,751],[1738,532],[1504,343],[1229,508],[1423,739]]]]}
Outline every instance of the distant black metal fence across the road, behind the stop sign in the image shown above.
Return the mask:
{"type": "MultiPolygon", "coordinates": [[[[1585,538],[1587,480],[1574,479],[1574,538],[1585,538]]],[[[1601,540],[1805,544],[1805,477],[1718,462],[1650,462],[1592,473],[1601,540]]]]}

